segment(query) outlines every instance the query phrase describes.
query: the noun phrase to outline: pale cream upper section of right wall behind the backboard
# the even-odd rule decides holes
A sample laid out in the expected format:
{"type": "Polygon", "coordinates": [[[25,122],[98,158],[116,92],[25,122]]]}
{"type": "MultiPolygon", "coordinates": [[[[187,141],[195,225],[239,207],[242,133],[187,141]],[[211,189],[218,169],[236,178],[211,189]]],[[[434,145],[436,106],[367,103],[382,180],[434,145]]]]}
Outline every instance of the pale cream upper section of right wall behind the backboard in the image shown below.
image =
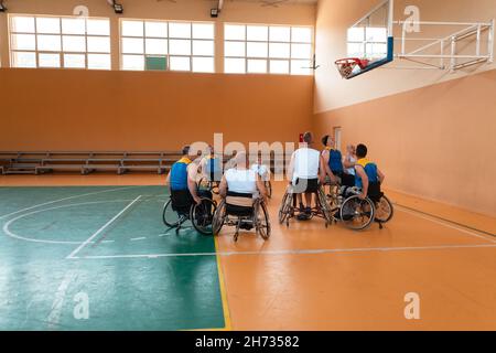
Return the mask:
{"type": "MultiPolygon", "coordinates": [[[[484,64],[455,74],[430,69],[378,68],[349,81],[342,79],[334,66],[334,61],[346,57],[346,30],[379,2],[380,0],[319,1],[315,53],[317,64],[321,67],[315,72],[315,113],[345,107],[446,79],[463,77],[467,73],[472,74],[496,67],[495,63],[484,64]]],[[[422,21],[486,22],[496,19],[495,0],[396,0],[395,4],[395,20],[405,18],[403,11],[407,4],[419,7],[422,21]]],[[[422,32],[417,36],[443,36],[455,30],[454,28],[439,28],[434,32],[430,28],[422,26],[422,32]]],[[[467,46],[468,50],[472,44],[464,43],[463,45],[467,46]]],[[[483,50],[486,50],[486,46],[483,50]]],[[[388,66],[398,65],[398,62],[395,62],[388,66]]],[[[408,63],[407,65],[411,66],[408,63]]]]}

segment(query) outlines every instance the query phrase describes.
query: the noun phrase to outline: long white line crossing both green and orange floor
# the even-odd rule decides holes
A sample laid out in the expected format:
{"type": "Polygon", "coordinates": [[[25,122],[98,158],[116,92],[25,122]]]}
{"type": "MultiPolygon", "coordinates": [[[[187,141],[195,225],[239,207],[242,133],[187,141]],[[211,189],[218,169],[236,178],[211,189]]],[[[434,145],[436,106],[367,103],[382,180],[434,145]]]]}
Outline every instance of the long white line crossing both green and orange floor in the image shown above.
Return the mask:
{"type": "MultiPolygon", "coordinates": [[[[418,250],[449,250],[472,248],[496,248],[496,244],[473,245],[438,245],[438,246],[399,246],[399,247],[357,247],[343,249],[300,249],[300,250],[266,250],[266,252],[219,252],[219,253],[177,253],[177,254],[137,254],[137,255],[88,255],[85,259],[106,258],[159,258],[159,257],[198,257],[198,256],[246,256],[246,255],[313,255],[313,254],[354,254],[354,253],[386,253],[386,252],[418,252],[418,250]]],[[[73,257],[79,258],[79,257],[73,257]]]]}

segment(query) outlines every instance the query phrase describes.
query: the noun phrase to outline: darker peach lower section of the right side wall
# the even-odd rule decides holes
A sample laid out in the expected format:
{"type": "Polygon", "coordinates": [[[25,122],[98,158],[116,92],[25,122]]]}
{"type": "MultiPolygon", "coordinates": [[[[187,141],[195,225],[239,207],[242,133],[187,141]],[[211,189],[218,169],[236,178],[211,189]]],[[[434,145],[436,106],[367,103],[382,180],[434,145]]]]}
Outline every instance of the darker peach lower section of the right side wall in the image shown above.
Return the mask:
{"type": "Polygon", "coordinates": [[[496,69],[315,115],[366,143],[386,186],[496,216],[496,69]]]}

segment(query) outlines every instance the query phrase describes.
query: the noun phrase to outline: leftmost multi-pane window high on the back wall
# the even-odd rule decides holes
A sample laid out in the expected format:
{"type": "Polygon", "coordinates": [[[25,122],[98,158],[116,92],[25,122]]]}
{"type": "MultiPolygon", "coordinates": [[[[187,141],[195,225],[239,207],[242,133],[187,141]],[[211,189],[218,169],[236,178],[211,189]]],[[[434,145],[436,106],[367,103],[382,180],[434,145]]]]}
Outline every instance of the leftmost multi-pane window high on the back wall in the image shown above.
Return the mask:
{"type": "Polygon", "coordinates": [[[76,17],[10,17],[12,67],[110,69],[110,22],[76,17]]]}

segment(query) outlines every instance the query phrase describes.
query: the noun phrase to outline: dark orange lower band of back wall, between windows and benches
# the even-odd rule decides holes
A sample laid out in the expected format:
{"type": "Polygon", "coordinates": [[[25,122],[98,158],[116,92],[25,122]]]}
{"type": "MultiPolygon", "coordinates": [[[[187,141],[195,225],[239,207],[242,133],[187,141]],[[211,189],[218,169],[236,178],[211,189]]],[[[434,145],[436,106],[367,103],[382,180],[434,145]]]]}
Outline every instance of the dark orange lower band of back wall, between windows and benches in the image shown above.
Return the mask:
{"type": "Polygon", "coordinates": [[[312,76],[0,68],[0,150],[176,150],[295,141],[312,76]]]}

